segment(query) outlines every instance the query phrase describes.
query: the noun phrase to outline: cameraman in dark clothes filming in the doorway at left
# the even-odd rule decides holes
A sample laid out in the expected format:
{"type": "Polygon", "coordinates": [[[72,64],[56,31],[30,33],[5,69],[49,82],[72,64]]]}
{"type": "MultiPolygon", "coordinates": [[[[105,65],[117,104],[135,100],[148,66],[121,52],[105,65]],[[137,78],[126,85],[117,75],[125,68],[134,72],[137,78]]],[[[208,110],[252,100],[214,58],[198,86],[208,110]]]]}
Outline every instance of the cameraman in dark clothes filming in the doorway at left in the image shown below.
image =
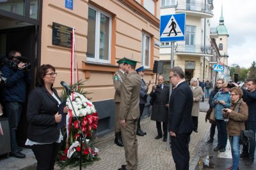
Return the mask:
{"type": "Polygon", "coordinates": [[[16,132],[22,111],[22,104],[26,102],[26,86],[30,84],[31,77],[26,66],[29,64],[22,62],[19,51],[13,50],[8,55],[10,63],[1,66],[0,71],[3,73],[6,81],[1,90],[1,102],[4,108],[4,115],[9,118],[11,130],[11,148],[10,156],[25,158],[26,155],[21,153],[16,141],[16,132]]]}

